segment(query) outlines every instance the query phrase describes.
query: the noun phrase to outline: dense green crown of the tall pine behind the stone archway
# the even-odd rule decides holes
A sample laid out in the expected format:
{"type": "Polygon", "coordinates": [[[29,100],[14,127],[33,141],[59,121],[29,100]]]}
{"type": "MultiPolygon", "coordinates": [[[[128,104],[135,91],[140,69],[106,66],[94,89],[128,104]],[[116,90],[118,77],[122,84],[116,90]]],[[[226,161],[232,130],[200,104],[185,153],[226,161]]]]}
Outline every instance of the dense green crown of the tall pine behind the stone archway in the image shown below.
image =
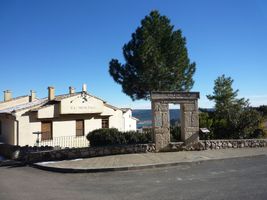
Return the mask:
{"type": "Polygon", "coordinates": [[[148,99],[152,91],[189,91],[195,63],[188,58],[186,39],[170,20],[152,11],[123,46],[125,64],[109,63],[109,73],[132,100],[148,99]]]}

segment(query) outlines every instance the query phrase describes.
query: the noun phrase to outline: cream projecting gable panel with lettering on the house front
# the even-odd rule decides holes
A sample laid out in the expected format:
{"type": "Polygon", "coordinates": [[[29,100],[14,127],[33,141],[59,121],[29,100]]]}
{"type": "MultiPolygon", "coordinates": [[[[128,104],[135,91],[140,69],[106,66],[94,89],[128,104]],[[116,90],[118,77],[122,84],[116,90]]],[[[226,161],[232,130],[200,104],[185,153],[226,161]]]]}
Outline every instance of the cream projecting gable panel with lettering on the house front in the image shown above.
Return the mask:
{"type": "Polygon", "coordinates": [[[103,101],[89,95],[77,95],[63,99],[60,103],[61,114],[89,114],[103,112],[103,101]]]}

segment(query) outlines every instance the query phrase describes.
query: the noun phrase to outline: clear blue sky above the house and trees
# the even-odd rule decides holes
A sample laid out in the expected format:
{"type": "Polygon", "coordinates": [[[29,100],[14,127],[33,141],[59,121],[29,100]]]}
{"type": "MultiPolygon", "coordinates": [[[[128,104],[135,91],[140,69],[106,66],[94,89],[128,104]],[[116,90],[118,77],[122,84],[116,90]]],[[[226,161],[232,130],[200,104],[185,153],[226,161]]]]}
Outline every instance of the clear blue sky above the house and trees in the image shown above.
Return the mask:
{"type": "Polygon", "coordinates": [[[124,62],[123,44],[153,9],[187,38],[201,107],[213,106],[205,96],[222,74],[251,105],[267,104],[265,0],[0,0],[0,90],[45,97],[47,86],[63,94],[86,83],[113,105],[149,108],[122,93],[108,63],[124,62]]]}

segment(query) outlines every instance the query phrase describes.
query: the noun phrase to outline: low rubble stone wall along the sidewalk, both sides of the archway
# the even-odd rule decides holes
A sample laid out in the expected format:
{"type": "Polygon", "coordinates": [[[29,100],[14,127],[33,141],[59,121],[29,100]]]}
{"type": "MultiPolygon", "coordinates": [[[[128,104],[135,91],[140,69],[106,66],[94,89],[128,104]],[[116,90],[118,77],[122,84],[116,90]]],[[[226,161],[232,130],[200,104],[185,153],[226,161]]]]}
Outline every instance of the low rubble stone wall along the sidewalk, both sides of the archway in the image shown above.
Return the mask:
{"type": "MultiPolygon", "coordinates": [[[[202,140],[190,145],[184,142],[170,143],[168,151],[200,151],[208,149],[227,148],[256,148],[267,147],[267,139],[247,140],[202,140]]],[[[52,151],[31,152],[24,159],[29,163],[39,161],[65,160],[75,158],[90,158],[130,153],[151,153],[156,152],[155,144],[136,144],[104,147],[71,148],[52,151]]]]}

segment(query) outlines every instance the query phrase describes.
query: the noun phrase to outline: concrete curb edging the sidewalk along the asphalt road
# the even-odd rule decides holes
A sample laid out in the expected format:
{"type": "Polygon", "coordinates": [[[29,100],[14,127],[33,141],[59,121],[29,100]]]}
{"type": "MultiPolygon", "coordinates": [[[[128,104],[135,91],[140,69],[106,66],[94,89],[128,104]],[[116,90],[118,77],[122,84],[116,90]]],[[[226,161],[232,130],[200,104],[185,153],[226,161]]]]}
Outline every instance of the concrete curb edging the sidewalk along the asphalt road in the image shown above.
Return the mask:
{"type": "Polygon", "coordinates": [[[125,166],[125,167],[107,167],[107,168],[61,168],[61,167],[49,167],[39,164],[31,164],[31,167],[51,171],[58,173],[99,173],[99,172],[115,172],[115,171],[131,171],[131,170],[142,170],[142,169],[155,169],[162,167],[173,167],[178,165],[196,165],[207,161],[217,161],[217,160],[228,160],[228,159],[238,159],[238,158],[252,158],[252,157],[267,157],[266,154],[259,154],[253,156],[240,156],[240,157],[230,157],[230,158],[218,158],[218,159],[206,159],[197,161],[183,161],[183,162],[173,162],[173,163],[157,163],[139,166],[125,166]]]}

